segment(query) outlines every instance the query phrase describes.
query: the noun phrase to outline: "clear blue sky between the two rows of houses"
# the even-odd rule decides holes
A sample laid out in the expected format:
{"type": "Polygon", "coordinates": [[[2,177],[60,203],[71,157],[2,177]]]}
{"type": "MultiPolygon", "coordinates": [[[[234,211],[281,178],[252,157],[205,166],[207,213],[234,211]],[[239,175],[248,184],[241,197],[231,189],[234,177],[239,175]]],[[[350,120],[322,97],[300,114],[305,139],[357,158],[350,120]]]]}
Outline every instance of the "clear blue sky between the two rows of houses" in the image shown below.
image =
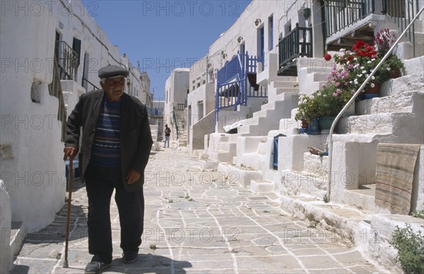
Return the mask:
{"type": "Polygon", "coordinates": [[[112,45],[147,72],[154,100],[165,97],[173,69],[191,67],[228,30],[250,0],[83,0],[112,45]],[[138,62],[137,62],[138,61],[138,62]]]}

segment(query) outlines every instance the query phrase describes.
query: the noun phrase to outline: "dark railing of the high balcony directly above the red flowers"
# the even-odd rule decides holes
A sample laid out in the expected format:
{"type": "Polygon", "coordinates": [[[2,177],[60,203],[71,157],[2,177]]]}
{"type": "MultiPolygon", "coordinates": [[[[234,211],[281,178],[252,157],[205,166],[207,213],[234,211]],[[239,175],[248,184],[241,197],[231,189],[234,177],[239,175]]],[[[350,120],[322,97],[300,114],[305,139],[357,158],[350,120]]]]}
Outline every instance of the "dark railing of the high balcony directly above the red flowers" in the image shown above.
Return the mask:
{"type": "Polygon", "coordinates": [[[374,0],[325,0],[326,37],[353,25],[374,11],[374,0]]]}

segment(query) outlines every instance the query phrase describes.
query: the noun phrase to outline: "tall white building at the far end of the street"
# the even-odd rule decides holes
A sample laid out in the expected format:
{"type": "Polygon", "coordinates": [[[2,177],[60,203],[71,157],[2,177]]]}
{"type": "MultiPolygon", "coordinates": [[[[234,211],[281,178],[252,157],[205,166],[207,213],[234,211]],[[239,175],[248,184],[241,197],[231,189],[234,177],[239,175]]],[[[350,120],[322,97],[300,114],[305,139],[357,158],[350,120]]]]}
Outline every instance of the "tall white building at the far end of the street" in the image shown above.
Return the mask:
{"type": "MultiPolygon", "coordinates": [[[[170,145],[185,146],[186,130],[184,109],[189,92],[189,69],[174,69],[165,81],[165,105],[163,121],[171,129],[170,145]],[[181,142],[181,143],[180,143],[181,142]]],[[[163,125],[165,127],[165,125],[163,125]]],[[[162,129],[163,130],[163,129],[162,129]]]]}

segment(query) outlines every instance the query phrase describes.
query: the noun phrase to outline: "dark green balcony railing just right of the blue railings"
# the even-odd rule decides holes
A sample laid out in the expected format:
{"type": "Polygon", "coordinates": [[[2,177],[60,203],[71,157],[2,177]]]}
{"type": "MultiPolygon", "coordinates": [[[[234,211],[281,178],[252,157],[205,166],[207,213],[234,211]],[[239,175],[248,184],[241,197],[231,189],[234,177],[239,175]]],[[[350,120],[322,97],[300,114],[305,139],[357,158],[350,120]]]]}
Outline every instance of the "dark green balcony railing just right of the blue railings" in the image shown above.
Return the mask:
{"type": "Polygon", "coordinates": [[[297,57],[312,57],[312,27],[300,27],[299,23],[284,38],[278,40],[280,72],[297,57]]]}

